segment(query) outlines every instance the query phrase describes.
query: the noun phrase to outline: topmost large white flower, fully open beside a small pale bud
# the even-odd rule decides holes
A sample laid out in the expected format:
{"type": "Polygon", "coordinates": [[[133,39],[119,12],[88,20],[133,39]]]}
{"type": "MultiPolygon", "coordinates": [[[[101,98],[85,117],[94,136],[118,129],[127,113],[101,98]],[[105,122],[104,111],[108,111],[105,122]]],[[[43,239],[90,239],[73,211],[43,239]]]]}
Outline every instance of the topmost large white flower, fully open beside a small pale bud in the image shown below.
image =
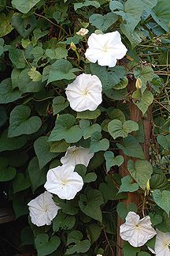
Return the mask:
{"type": "Polygon", "coordinates": [[[116,66],[117,59],[127,53],[118,31],[98,35],[92,33],[87,43],[86,58],[93,63],[98,61],[100,66],[116,66]]]}

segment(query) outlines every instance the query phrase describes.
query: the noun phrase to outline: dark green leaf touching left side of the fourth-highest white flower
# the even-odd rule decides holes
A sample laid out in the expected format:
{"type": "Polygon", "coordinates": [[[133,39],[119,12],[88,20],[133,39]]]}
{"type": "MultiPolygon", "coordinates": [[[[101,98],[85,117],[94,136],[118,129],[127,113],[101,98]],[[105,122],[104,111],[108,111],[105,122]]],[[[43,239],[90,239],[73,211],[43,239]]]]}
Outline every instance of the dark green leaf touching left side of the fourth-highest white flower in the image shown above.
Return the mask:
{"type": "Polygon", "coordinates": [[[46,182],[47,168],[39,168],[39,161],[37,157],[33,157],[28,164],[28,175],[31,180],[31,190],[35,190],[46,182]]]}

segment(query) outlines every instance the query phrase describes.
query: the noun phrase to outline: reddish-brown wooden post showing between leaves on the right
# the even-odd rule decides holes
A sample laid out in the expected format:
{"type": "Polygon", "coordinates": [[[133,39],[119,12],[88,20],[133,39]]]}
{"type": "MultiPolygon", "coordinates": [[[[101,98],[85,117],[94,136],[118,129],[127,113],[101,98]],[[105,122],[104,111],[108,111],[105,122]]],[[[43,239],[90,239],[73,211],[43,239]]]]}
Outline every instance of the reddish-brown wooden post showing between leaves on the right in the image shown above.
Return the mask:
{"type": "MultiPolygon", "coordinates": [[[[128,92],[131,92],[135,89],[135,79],[129,81],[127,90],[128,92]]],[[[142,144],[142,149],[145,154],[145,159],[150,159],[149,154],[149,148],[150,148],[150,134],[151,134],[151,123],[152,123],[152,106],[149,107],[148,111],[146,112],[145,117],[143,117],[142,112],[139,110],[139,108],[133,103],[131,100],[128,104],[131,120],[135,122],[142,121],[142,125],[144,128],[144,136],[145,136],[145,142],[142,144]]],[[[128,160],[132,159],[130,156],[125,156],[123,152],[120,152],[122,156],[124,156],[124,164],[120,166],[119,173],[122,177],[129,175],[129,172],[127,170],[127,162],[128,160]]],[[[127,193],[127,200],[122,200],[126,202],[126,205],[128,205],[131,202],[134,202],[136,205],[139,205],[140,197],[137,193],[127,193]]],[[[123,221],[118,216],[117,218],[117,250],[116,250],[116,256],[124,256],[123,254],[123,240],[120,238],[120,225],[123,223],[123,221]]]]}

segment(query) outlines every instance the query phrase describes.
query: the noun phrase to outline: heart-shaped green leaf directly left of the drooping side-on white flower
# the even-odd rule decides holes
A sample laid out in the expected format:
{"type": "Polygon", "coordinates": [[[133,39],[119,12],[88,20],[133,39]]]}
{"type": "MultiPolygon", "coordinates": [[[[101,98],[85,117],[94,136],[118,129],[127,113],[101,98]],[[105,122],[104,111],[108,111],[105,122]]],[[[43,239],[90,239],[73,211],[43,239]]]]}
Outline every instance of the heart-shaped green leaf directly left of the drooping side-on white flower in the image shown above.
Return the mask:
{"type": "Polygon", "coordinates": [[[50,143],[47,136],[38,137],[34,143],[35,154],[39,160],[39,168],[42,169],[57,153],[50,152],[50,143]]]}

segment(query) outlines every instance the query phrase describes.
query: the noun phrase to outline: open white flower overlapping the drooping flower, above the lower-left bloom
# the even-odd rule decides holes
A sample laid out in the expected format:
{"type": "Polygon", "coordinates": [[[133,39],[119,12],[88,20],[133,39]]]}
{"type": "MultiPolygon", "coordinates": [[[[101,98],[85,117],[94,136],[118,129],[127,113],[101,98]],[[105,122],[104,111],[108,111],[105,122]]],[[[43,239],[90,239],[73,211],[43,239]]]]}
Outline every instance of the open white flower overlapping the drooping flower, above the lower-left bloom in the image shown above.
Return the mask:
{"type": "Polygon", "coordinates": [[[47,191],[57,194],[59,198],[70,200],[82,189],[83,179],[74,171],[74,166],[63,164],[47,172],[44,186],[47,191]]]}

